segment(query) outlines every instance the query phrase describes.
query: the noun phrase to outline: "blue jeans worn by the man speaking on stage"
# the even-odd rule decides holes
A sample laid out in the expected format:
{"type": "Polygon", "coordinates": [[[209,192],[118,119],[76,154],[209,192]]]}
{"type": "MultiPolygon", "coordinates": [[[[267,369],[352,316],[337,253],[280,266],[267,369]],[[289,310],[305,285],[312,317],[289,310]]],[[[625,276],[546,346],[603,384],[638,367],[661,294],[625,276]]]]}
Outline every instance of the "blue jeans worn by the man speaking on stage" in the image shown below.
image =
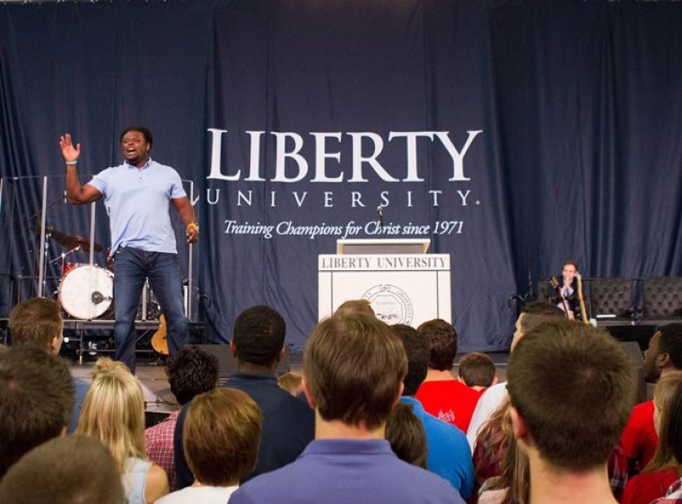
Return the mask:
{"type": "Polygon", "coordinates": [[[154,296],[166,317],[170,354],[189,343],[187,318],[182,306],[182,276],[177,254],[118,248],[114,274],[114,359],[135,373],[135,317],[144,281],[149,279],[154,296]]]}

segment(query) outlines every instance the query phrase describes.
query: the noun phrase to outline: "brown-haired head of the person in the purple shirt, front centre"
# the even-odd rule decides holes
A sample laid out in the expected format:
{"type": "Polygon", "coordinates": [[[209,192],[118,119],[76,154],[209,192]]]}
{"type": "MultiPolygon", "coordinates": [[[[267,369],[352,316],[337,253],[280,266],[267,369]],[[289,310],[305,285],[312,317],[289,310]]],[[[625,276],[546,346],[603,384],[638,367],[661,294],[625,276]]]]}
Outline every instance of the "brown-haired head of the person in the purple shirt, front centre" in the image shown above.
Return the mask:
{"type": "Polygon", "coordinates": [[[402,391],[407,358],[395,331],[376,317],[329,317],[303,353],[303,391],[322,421],[384,426],[402,391]]]}

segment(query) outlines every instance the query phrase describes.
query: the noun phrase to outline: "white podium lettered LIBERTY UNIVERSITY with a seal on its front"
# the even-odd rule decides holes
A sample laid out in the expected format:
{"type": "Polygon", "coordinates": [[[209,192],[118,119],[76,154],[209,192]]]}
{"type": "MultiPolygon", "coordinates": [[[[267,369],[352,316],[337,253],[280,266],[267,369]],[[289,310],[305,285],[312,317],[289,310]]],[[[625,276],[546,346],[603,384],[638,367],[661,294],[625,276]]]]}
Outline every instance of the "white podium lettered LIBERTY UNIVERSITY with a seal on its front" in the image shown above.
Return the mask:
{"type": "Polygon", "coordinates": [[[450,255],[425,254],[429,244],[428,239],[338,240],[339,253],[318,256],[319,319],[346,300],[364,299],[387,324],[450,322],[450,255]]]}

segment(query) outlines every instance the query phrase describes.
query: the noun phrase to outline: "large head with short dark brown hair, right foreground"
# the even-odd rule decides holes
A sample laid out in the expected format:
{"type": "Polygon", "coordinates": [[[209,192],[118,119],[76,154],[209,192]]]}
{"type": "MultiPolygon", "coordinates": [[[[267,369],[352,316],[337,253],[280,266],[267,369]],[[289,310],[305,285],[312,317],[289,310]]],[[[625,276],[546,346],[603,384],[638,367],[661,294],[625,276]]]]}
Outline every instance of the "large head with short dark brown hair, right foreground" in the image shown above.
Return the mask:
{"type": "Polygon", "coordinates": [[[520,448],[547,465],[605,465],[634,406],[634,362],[612,336],[577,322],[524,335],[507,367],[511,420],[520,448]]]}

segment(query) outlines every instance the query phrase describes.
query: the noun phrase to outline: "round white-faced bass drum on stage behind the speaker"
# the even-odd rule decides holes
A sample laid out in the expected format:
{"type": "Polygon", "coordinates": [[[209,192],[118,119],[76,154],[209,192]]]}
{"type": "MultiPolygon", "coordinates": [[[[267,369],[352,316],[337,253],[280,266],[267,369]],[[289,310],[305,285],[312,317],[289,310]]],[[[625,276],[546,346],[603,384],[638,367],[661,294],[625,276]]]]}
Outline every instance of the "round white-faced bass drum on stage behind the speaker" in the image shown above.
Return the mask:
{"type": "Polygon", "coordinates": [[[114,308],[114,275],[94,265],[74,267],[59,283],[59,303],[71,317],[92,320],[114,308]]]}

